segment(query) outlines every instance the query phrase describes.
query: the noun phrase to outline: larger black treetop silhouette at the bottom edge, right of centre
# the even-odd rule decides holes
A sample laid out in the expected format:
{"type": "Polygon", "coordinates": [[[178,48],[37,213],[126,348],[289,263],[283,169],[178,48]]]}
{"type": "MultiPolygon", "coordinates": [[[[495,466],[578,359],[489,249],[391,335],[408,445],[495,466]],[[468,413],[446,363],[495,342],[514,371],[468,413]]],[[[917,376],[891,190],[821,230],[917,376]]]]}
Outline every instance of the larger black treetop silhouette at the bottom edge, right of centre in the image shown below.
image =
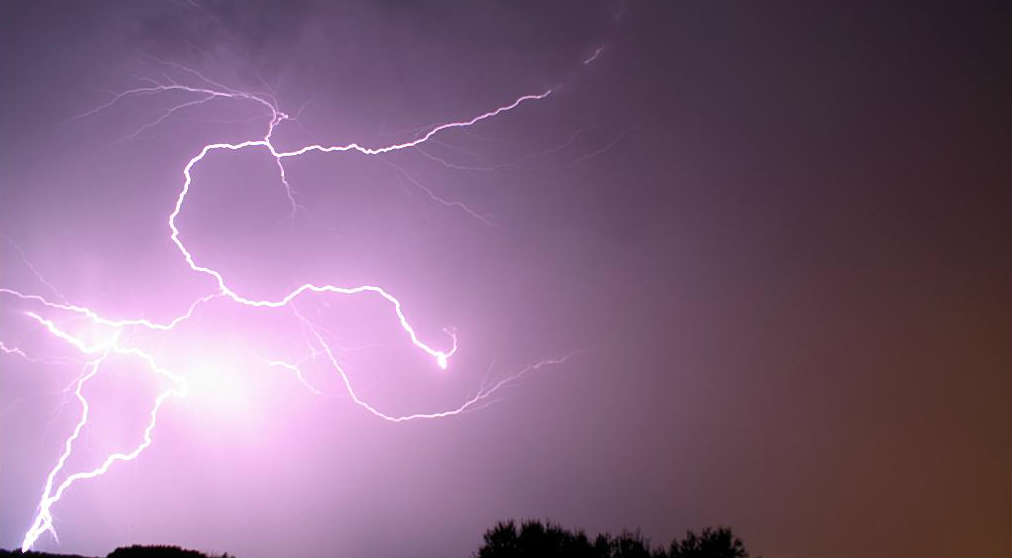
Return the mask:
{"type": "Polygon", "coordinates": [[[485,544],[478,558],[525,558],[559,556],[563,558],[743,558],[748,556],[742,540],[728,528],[704,529],[696,535],[689,531],[675,538],[667,548],[651,547],[639,531],[625,531],[616,537],[601,534],[591,540],[583,531],[572,532],[551,522],[532,520],[517,524],[500,522],[485,532],[485,544]]]}

